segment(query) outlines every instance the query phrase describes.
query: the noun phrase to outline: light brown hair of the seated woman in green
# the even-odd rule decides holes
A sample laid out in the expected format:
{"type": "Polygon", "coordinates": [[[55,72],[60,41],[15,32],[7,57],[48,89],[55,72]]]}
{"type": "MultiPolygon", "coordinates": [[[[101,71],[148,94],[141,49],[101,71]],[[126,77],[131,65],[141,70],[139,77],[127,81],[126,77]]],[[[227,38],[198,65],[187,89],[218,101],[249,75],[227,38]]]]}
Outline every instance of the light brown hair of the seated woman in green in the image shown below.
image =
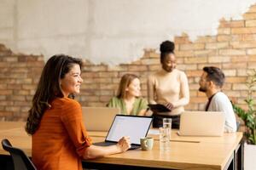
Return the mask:
{"type": "Polygon", "coordinates": [[[128,88],[128,86],[131,84],[131,82],[136,78],[138,79],[138,77],[134,74],[125,74],[121,78],[121,80],[119,82],[118,93],[117,93],[117,97],[119,99],[125,99],[125,97],[126,97],[125,89],[128,88]]]}

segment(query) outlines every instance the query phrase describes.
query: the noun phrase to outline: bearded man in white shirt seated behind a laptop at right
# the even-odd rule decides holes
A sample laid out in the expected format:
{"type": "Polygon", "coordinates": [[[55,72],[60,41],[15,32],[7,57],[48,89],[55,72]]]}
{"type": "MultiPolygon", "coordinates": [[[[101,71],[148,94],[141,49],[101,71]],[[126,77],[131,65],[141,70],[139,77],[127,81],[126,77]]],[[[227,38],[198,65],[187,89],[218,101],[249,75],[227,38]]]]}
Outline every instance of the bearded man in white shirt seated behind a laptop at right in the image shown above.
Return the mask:
{"type": "Polygon", "coordinates": [[[225,132],[236,132],[236,116],[230,99],[221,92],[224,85],[224,73],[217,67],[203,68],[199,82],[199,91],[207,95],[208,103],[206,111],[223,111],[225,117],[225,132]]]}

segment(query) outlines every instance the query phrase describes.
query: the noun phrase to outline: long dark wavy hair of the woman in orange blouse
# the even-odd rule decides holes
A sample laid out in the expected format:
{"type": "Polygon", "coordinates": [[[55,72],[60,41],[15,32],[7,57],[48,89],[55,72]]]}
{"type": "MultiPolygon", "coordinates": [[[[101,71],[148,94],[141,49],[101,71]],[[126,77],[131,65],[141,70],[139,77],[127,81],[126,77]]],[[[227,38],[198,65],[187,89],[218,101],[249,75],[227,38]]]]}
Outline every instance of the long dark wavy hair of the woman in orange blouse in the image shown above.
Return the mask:
{"type": "Polygon", "coordinates": [[[65,77],[73,64],[78,64],[81,68],[82,60],[59,54],[52,56],[44,65],[38,88],[32,99],[32,108],[28,111],[26,133],[35,133],[44,111],[51,107],[49,103],[57,97],[63,98],[60,79],[65,77]]]}

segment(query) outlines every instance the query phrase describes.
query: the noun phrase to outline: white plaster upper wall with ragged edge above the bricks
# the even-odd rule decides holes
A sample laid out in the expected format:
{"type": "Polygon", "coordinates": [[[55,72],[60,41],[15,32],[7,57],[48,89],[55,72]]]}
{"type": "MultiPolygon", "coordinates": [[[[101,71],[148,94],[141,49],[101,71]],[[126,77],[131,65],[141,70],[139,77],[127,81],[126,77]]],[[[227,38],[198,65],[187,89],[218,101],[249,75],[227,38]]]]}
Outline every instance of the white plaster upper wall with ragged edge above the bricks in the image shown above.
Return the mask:
{"type": "Polygon", "coordinates": [[[256,0],[0,0],[0,42],[16,52],[70,54],[109,65],[186,32],[215,35],[256,0]]]}

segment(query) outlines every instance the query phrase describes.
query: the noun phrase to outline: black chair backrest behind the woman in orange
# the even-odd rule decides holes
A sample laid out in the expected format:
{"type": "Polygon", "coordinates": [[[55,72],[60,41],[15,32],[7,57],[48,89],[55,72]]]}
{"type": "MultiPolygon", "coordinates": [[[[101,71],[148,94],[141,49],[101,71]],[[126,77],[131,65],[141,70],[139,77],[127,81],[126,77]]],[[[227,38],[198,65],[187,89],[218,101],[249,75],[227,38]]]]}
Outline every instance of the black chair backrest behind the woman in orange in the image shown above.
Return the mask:
{"type": "Polygon", "coordinates": [[[9,143],[8,139],[2,140],[3,150],[9,151],[13,158],[15,170],[36,170],[32,161],[26,156],[23,150],[15,148],[9,143]]]}

